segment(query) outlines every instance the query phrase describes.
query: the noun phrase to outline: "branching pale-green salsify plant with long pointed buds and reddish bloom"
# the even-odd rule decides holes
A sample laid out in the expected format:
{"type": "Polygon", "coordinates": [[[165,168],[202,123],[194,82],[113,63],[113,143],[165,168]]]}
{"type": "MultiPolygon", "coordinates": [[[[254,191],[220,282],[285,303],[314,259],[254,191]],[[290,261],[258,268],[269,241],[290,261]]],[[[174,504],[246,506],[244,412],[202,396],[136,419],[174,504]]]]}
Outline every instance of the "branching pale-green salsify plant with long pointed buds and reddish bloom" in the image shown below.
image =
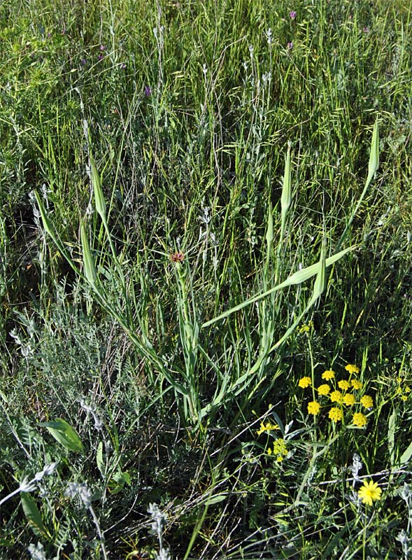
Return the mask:
{"type": "MultiPolygon", "coordinates": [[[[339,251],[346,240],[357,210],[360,208],[360,204],[362,204],[362,200],[374,178],[376,169],[378,169],[378,120],[376,120],[374,125],[374,132],[371,140],[367,181],[360,199],[351,211],[346,223],[346,228],[343,230],[341,239],[339,239],[336,245],[336,252],[333,255],[326,258],[325,253],[327,248],[325,247],[325,242],[323,242],[318,264],[305,267],[298,272],[294,272],[294,274],[288,276],[284,281],[279,281],[280,276],[284,272],[281,263],[285,244],[285,227],[292,203],[290,146],[287,149],[283,189],[280,197],[281,225],[276,251],[274,251],[273,211],[269,199],[266,234],[267,253],[262,272],[262,286],[264,288],[262,293],[244,300],[231,309],[201,324],[199,311],[194,304],[195,298],[192,288],[193,278],[190,272],[190,265],[184,253],[180,252],[171,255],[171,260],[176,270],[179,344],[183,353],[182,365],[178,363],[168,363],[166,357],[159,354],[155,348],[154,342],[150,340],[148,328],[143,319],[145,310],[142,307],[143,302],[145,302],[145,293],[149,289],[149,286],[141,275],[141,295],[138,296],[135,291],[134,283],[127,281],[127,262],[126,264],[122,263],[124,257],[119,255],[116,251],[108,226],[108,211],[101,188],[101,176],[92,155],[87,122],[85,122],[85,136],[89,150],[89,173],[94,192],[94,207],[101,219],[103,238],[106,239],[109,250],[106,251],[102,235],[96,231],[94,234],[96,241],[93,244],[94,252],[97,251],[99,254],[99,258],[96,262],[90,246],[89,234],[86,229],[87,222],[83,221],[80,225],[80,240],[83,251],[82,272],[73,258],[71,258],[71,255],[69,255],[62,241],[57,237],[56,230],[43,205],[41,195],[36,191],[34,195],[41,214],[43,228],[48,235],[50,235],[57,248],[59,248],[60,253],[62,253],[67,262],[69,262],[71,268],[90,285],[97,303],[99,303],[108,314],[115,318],[119,325],[125,330],[139,356],[146,361],[148,371],[150,371],[150,377],[154,379],[155,374],[159,375],[160,379],[164,379],[169,388],[173,389],[175,398],[178,402],[181,402],[183,415],[187,424],[197,426],[197,428],[204,426],[204,420],[206,418],[208,421],[213,419],[215,412],[217,412],[220,407],[227,405],[229,399],[236,398],[241,394],[248,395],[248,398],[251,398],[253,394],[255,394],[257,388],[259,388],[262,381],[264,381],[265,367],[267,366],[271,354],[275,351],[280,351],[282,345],[288,337],[292,335],[294,330],[296,330],[299,323],[301,323],[302,318],[304,318],[325,291],[326,268],[339,261],[343,255],[346,255],[346,253],[353,249],[353,247],[349,247],[339,251]],[[290,288],[290,286],[299,286],[299,284],[311,279],[313,276],[316,276],[316,279],[311,297],[304,306],[304,309],[293,318],[286,332],[276,340],[276,321],[278,316],[280,316],[280,310],[283,304],[281,296],[282,290],[290,288]],[[110,300],[107,295],[107,290],[105,288],[105,283],[107,281],[111,283],[113,290],[119,293],[119,297],[115,299],[115,301],[110,300]],[[218,321],[223,321],[236,311],[240,311],[257,302],[259,304],[259,313],[256,330],[258,333],[259,348],[256,352],[250,347],[248,366],[243,372],[239,372],[239,374],[233,378],[229,372],[230,362],[227,356],[225,357],[223,367],[220,367],[218,363],[215,363],[215,361],[208,356],[207,348],[201,339],[201,331],[208,332],[207,329],[215,323],[218,323],[218,321]],[[199,368],[200,355],[204,357],[208,366],[214,370],[216,379],[218,380],[214,394],[206,404],[202,402],[201,395],[199,394],[197,370],[199,368]]],[[[141,266],[144,267],[145,263],[141,262],[141,266]]],[[[246,334],[245,338],[249,339],[250,336],[246,334]]],[[[166,389],[166,391],[167,390],[168,389],[166,389]]]]}

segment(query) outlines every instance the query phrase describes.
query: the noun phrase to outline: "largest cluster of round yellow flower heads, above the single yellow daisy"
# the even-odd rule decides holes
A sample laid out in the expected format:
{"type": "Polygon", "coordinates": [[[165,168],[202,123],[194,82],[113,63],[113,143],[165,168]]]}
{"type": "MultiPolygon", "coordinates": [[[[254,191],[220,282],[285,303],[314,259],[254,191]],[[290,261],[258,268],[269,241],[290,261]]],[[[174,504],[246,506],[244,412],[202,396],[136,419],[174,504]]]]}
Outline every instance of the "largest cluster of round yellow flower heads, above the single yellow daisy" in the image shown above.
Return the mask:
{"type": "MultiPolygon", "coordinates": [[[[328,414],[329,419],[333,422],[343,420],[343,406],[353,407],[355,405],[362,405],[362,407],[369,410],[374,406],[374,400],[369,395],[363,395],[359,398],[356,393],[353,393],[353,391],[360,391],[363,387],[362,381],[354,377],[360,372],[359,367],[354,364],[348,364],[345,366],[345,369],[349,374],[348,379],[339,379],[336,383],[334,370],[326,370],[322,373],[322,379],[332,382],[332,386],[329,383],[323,383],[317,388],[315,386],[312,388],[313,395],[317,391],[321,400],[327,397],[330,403],[336,403],[337,406],[331,407],[328,414]]],[[[301,377],[298,385],[301,388],[310,387],[312,385],[311,377],[301,377]]],[[[308,403],[308,414],[313,414],[313,416],[319,414],[321,407],[320,402],[312,400],[308,403]]],[[[367,416],[362,414],[362,412],[353,412],[351,423],[353,426],[357,426],[357,428],[364,428],[367,425],[367,416]]]]}

